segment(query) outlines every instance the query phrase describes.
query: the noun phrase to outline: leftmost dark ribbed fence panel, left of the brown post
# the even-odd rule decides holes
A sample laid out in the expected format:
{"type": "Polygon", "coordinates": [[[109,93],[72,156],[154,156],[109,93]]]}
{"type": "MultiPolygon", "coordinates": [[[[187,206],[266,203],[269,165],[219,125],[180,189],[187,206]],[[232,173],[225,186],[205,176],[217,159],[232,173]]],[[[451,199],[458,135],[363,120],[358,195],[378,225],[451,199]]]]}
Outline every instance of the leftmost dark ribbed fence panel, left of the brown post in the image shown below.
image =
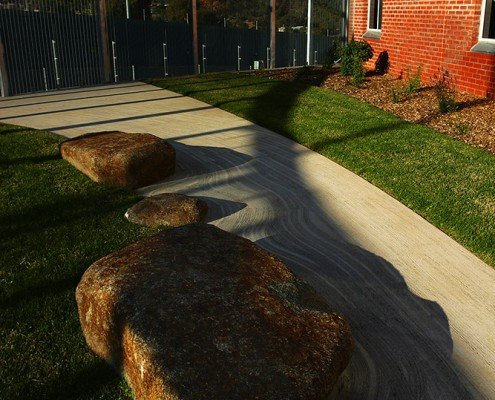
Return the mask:
{"type": "Polygon", "coordinates": [[[10,94],[95,85],[102,80],[94,16],[0,9],[10,94]]]}

